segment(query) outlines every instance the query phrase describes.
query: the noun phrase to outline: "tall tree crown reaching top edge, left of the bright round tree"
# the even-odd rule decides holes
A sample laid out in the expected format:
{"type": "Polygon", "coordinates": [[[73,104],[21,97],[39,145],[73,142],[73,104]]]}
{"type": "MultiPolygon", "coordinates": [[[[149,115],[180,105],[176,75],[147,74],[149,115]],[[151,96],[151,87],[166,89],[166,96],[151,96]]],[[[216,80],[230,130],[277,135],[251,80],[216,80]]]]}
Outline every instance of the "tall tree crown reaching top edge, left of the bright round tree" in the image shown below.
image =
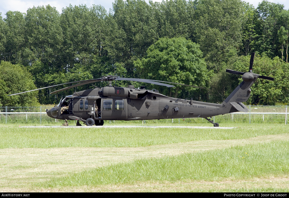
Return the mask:
{"type": "MultiPolygon", "coordinates": [[[[118,0],[114,14],[108,16],[109,35],[105,42],[111,63],[126,69],[126,77],[134,77],[133,60],[142,57],[147,48],[158,40],[153,9],[142,0],[118,0]]],[[[108,23],[107,22],[107,23],[108,23]]]]}

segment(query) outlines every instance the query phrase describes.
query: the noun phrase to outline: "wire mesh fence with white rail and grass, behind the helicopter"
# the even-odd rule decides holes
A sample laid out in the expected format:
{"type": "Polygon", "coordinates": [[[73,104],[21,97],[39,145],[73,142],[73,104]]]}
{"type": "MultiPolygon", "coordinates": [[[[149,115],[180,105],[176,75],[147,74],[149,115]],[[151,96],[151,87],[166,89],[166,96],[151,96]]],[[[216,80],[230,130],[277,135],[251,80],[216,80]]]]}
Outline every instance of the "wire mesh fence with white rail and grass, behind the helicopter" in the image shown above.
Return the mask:
{"type": "MultiPolygon", "coordinates": [[[[0,123],[38,123],[49,124],[63,122],[62,120],[48,117],[46,109],[51,107],[0,107],[0,123]]],[[[214,116],[214,122],[245,122],[245,123],[284,123],[287,124],[287,105],[286,106],[253,106],[248,105],[249,112],[236,112],[225,115],[214,116]]],[[[74,122],[74,121],[70,121],[74,122]]],[[[173,123],[197,123],[208,122],[203,118],[185,118],[185,119],[165,119],[165,120],[140,120],[140,121],[105,121],[109,123],[118,122],[173,122],[173,123]]]]}

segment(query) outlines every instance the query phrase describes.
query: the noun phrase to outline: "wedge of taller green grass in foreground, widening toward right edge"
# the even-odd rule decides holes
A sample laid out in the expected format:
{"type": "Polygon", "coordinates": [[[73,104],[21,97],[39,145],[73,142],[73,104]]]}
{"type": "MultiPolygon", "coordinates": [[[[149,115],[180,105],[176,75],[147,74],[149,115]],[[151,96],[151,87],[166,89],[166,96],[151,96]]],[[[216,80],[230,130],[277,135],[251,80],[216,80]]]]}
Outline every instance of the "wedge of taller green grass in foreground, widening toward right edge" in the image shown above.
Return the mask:
{"type": "MultiPolygon", "coordinates": [[[[177,156],[139,159],[73,173],[36,186],[55,188],[133,184],[145,181],[222,181],[288,175],[288,146],[289,141],[273,141],[177,156]]],[[[282,189],[286,191],[289,188],[282,189]]]]}

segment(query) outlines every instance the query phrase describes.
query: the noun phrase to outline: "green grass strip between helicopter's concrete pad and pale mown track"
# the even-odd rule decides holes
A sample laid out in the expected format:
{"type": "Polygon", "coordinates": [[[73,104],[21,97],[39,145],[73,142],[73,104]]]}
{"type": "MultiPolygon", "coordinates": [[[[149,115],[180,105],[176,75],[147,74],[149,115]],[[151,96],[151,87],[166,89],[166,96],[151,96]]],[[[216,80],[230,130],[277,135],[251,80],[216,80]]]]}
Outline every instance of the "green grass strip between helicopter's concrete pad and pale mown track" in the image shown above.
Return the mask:
{"type": "Polygon", "coordinates": [[[233,129],[188,128],[0,128],[0,148],[140,147],[202,140],[245,139],[288,132],[288,125],[234,125],[233,129]],[[238,128],[240,126],[240,128],[238,128]]]}

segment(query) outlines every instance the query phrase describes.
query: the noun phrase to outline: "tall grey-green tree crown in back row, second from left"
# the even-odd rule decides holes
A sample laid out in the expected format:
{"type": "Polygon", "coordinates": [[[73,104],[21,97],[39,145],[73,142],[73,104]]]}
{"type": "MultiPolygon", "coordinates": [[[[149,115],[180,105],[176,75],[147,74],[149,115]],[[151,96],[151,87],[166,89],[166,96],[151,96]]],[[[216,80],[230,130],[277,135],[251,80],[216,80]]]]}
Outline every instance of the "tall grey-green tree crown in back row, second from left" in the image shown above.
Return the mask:
{"type": "Polygon", "coordinates": [[[23,63],[32,65],[40,60],[48,72],[61,71],[61,51],[63,35],[60,27],[59,13],[50,5],[29,8],[25,16],[27,28],[26,47],[23,52],[23,63]]]}

